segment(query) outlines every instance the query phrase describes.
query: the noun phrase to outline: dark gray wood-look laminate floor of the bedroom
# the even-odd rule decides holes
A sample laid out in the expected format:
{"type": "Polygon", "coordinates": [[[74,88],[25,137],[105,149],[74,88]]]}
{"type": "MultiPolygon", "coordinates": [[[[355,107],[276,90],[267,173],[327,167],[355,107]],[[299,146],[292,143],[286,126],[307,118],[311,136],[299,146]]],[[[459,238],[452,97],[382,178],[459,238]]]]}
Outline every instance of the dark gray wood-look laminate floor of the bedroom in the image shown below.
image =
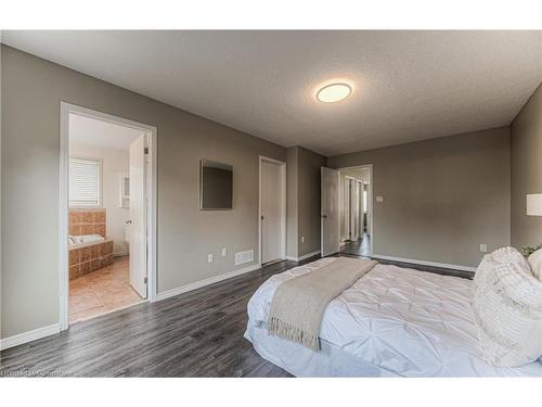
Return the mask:
{"type": "Polygon", "coordinates": [[[2,351],[0,377],[288,377],[262,359],[243,333],[246,304],[256,289],[270,276],[296,265],[275,263],[2,351]]]}

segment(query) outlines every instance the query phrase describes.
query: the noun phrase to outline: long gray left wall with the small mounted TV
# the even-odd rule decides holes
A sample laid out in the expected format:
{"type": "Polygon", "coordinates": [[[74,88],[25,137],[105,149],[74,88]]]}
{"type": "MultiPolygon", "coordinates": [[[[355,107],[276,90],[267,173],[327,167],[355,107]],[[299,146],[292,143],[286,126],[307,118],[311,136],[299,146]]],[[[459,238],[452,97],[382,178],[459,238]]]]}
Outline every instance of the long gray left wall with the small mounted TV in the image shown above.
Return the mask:
{"type": "Polygon", "coordinates": [[[1,63],[2,338],[59,322],[61,101],[157,127],[159,292],[258,258],[258,155],[284,148],[9,47],[1,63]],[[202,157],[233,165],[233,211],[198,209],[202,157]]]}

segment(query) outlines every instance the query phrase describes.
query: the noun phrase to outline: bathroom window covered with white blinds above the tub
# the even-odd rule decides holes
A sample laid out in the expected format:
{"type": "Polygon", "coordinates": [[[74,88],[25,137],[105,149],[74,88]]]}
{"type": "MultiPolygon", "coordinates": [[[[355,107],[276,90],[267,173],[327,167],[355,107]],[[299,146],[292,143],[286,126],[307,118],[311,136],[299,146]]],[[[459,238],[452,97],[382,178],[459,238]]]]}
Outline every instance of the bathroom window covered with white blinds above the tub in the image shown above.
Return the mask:
{"type": "Polygon", "coordinates": [[[102,161],[69,157],[69,207],[102,207],[102,161]]]}

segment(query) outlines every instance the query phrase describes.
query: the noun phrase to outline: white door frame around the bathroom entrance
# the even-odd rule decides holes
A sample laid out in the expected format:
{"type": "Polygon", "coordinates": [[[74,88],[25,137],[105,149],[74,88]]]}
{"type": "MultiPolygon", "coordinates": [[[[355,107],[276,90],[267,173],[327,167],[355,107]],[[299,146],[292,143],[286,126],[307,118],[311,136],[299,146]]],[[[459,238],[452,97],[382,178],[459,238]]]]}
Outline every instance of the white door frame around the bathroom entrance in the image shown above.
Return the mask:
{"type": "MultiPolygon", "coordinates": [[[[60,330],[69,328],[69,245],[68,245],[68,217],[69,217],[69,115],[78,114],[109,122],[121,126],[128,126],[141,130],[147,136],[147,178],[146,178],[146,222],[147,222],[147,298],[144,301],[155,302],[157,297],[156,285],[156,185],[157,185],[157,160],[156,160],[156,127],[143,123],[129,120],[107,113],[93,111],[76,104],[61,102],[60,117],[60,330]]],[[[138,303],[139,304],[139,303],[138,303]]]]}

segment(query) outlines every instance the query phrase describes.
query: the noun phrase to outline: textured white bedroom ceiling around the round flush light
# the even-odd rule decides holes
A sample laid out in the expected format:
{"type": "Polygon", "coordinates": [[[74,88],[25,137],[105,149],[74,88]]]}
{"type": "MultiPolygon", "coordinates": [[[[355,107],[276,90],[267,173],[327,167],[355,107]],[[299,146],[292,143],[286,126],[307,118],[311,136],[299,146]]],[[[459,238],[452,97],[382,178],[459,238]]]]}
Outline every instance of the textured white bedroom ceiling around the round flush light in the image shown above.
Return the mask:
{"type": "Polygon", "coordinates": [[[542,31],[3,31],[2,41],[254,136],[325,155],[508,125],[542,31]],[[320,103],[320,85],[353,86],[320,103]]]}

